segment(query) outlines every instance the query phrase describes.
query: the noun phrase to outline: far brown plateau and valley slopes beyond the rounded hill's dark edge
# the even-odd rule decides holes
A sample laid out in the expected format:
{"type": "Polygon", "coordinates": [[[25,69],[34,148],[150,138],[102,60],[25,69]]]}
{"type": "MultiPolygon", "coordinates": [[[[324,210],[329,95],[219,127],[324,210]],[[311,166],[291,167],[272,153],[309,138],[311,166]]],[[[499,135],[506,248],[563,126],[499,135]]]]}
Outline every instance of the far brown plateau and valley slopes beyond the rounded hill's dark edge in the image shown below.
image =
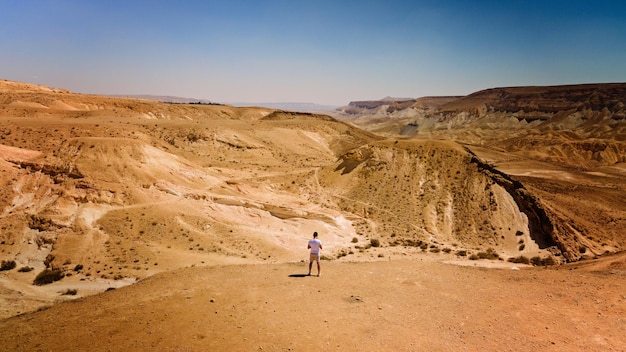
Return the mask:
{"type": "Polygon", "coordinates": [[[363,106],[340,118],[386,135],[465,144],[489,160],[492,171],[511,178],[503,187],[524,186],[532,197],[516,202],[534,209],[527,214],[539,211],[534,222],[543,230],[536,233],[551,238],[568,260],[578,260],[623,245],[626,208],[617,199],[626,191],[625,102],[626,83],[509,87],[421,110],[381,113],[363,106]]]}

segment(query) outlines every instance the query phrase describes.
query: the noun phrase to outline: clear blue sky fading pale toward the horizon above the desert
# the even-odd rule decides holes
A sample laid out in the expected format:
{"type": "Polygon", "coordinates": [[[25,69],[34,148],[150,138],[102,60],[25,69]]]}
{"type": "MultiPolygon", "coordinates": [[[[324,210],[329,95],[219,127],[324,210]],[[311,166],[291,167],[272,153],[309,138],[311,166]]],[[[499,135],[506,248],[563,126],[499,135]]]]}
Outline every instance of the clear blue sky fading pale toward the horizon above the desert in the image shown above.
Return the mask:
{"type": "Polygon", "coordinates": [[[345,105],[626,81],[626,1],[0,0],[0,79],[345,105]]]}

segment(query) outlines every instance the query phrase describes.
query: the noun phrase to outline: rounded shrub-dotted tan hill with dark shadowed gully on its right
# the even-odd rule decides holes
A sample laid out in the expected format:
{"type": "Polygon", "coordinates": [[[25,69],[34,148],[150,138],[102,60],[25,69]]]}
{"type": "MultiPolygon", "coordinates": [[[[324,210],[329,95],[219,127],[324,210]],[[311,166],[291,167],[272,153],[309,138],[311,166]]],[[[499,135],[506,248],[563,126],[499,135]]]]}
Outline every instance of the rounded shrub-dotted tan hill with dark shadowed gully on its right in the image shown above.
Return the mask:
{"type": "MultiPolygon", "coordinates": [[[[494,248],[509,256],[560,256],[550,218],[524,186],[444,141],[382,141],[345,154],[323,177],[359,231],[390,245],[494,248]],[[330,182],[329,180],[334,180],[330,182]],[[525,244],[520,246],[520,244],[525,244]]],[[[569,258],[572,259],[572,258],[569,258]]]]}

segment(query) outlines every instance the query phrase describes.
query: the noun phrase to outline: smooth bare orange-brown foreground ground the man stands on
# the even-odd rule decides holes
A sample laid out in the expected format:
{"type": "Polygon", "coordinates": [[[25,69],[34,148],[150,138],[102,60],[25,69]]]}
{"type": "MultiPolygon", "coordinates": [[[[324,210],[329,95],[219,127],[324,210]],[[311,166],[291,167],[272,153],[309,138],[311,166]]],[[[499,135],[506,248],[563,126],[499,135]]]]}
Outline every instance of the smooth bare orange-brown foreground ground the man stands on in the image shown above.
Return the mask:
{"type": "Polygon", "coordinates": [[[1,324],[2,351],[623,351],[625,262],[205,266],[1,324]],[[600,265],[600,266],[598,266],[600,265]],[[315,271],[315,270],[314,270],[315,271]]]}

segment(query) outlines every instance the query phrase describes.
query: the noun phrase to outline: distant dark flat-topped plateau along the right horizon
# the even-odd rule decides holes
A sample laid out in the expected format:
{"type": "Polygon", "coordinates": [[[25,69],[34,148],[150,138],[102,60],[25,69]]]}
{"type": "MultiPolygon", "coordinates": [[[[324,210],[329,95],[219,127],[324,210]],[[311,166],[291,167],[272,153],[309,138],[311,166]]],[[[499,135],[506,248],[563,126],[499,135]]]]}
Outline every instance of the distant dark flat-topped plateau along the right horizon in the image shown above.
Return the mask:
{"type": "Polygon", "coordinates": [[[462,131],[467,137],[480,128],[497,129],[490,138],[500,138],[511,130],[539,129],[624,140],[625,104],[626,83],[605,83],[492,88],[464,97],[355,101],[337,111],[339,119],[366,130],[405,136],[462,131]]]}

